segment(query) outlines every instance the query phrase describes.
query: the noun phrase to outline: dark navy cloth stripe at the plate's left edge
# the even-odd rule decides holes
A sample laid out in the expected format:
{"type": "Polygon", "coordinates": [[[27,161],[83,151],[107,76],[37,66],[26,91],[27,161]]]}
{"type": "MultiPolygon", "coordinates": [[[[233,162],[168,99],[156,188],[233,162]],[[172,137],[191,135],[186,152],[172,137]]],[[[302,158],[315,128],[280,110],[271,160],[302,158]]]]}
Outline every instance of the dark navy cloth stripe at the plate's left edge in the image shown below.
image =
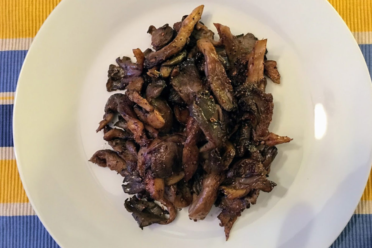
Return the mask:
{"type": "Polygon", "coordinates": [[[0,104],[0,147],[13,146],[13,104],[0,104]]]}

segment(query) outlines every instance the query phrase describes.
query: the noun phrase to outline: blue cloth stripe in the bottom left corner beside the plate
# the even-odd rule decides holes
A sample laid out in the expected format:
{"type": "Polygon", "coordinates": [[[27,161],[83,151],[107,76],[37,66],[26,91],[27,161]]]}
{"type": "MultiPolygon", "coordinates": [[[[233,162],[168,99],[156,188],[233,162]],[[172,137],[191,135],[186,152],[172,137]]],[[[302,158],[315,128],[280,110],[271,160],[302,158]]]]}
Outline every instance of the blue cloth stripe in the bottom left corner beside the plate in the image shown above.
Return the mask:
{"type": "Polygon", "coordinates": [[[38,216],[0,216],[0,248],[59,248],[38,216]]]}

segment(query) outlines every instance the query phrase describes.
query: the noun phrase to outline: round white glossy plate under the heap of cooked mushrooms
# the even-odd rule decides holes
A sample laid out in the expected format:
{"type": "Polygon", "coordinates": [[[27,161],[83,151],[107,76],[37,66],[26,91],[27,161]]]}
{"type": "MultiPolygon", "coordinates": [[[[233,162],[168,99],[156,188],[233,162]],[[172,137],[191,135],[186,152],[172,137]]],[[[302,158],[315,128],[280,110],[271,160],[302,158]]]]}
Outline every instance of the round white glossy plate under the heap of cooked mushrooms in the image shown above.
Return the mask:
{"type": "MultiPolygon", "coordinates": [[[[214,30],[214,29],[213,29],[214,30]]],[[[217,35],[216,35],[217,36],[217,35]]],[[[14,142],[23,185],[63,248],[327,248],[350,219],[368,178],[372,150],[371,80],[362,54],[324,0],[64,0],[48,17],[19,77],[14,142]],[[123,207],[122,178],[87,160],[107,147],[95,133],[110,95],[108,65],[150,46],[149,25],[173,24],[205,4],[202,21],[268,38],[282,84],[270,129],[280,145],[270,179],[224,241],[217,210],[193,222],[186,210],[167,226],[144,228],[123,207]]]]}

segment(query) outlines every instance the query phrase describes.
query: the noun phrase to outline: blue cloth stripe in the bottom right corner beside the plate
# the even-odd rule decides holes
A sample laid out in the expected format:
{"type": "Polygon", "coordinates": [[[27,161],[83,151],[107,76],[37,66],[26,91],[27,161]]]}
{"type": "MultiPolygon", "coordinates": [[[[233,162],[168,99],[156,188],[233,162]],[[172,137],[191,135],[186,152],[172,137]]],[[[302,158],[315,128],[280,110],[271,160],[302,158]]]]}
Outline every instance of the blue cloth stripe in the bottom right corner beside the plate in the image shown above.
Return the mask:
{"type": "Polygon", "coordinates": [[[372,215],[353,215],[330,248],[371,248],[372,215]]]}

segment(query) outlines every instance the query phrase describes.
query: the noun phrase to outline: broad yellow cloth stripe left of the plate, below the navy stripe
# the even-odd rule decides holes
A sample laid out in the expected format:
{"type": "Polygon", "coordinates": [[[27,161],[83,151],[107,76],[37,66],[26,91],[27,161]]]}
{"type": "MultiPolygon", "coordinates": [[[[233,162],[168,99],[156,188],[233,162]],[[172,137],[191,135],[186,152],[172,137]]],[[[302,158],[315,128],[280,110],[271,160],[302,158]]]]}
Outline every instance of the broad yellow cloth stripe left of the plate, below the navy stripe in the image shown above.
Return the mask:
{"type": "Polygon", "coordinates": [[[16,160],[0,160],[0,203],[28,202],[16,160]]]}

